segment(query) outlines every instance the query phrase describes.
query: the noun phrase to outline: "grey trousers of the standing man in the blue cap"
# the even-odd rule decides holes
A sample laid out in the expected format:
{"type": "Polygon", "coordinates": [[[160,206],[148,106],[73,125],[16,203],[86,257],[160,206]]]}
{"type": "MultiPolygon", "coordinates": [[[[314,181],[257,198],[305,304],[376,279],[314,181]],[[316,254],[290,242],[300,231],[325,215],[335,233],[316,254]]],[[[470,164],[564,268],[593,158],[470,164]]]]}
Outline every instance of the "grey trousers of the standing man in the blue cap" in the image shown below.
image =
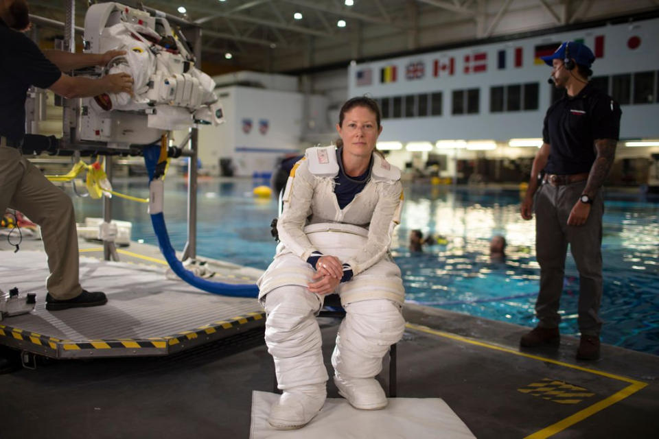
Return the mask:
{"type": "Polygon", "coordinates": [[[565,258],[570,251],[579,270],[579,330],[599,335],[602,321],[602,191],[594,197],[583,226],[568,226],[570,211],[586,187],[586,180],[554,187],[544,183],[535,194],[535,252],[540,264],[540,293],[535,313],[544,328],[558,327],[559,302],[563,292],[565,258]]]}

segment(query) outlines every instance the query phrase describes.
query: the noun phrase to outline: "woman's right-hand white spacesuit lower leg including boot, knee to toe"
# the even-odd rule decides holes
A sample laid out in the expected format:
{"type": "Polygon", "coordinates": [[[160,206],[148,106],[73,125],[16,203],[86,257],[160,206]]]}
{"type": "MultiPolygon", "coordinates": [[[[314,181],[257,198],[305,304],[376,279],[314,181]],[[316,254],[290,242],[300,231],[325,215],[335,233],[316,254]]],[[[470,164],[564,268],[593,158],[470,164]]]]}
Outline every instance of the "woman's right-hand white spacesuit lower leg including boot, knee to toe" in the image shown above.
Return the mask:
{"type": "Polygon", "coordinates": [[[356,409],[382,409],[388,401],[375,376],[405,330],[400,306],[386,299],[362,300],[345,305],[345,311],[332,354],[334,383],[356,409]]]}

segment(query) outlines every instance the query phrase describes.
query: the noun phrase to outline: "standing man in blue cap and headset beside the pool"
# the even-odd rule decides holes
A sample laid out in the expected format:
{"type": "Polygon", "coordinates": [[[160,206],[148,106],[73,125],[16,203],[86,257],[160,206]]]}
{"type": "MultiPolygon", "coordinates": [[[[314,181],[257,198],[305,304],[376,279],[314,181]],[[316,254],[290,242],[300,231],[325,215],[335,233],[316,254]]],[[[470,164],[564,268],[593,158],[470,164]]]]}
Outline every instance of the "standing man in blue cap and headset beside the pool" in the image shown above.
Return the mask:
{"type": "Polygon", "coordinates": [[[551,79],[556,87],[566,89],[566,95],[547,110],[542,147],[533,160],[520,209],[524,219],[531,219],[535,195],[535,247],[540,264],[535,312],[539,322],[522,337],[520,345],[559,343],[558,309],[570,244],[579,270],[578,359],[599,358],[601,186],[613,163],[621,118],[618,104],[588,83],[594,58],[581,43],[563,43],[553,55],[542,58],[553,67],[551,79]],[[536,193],[540,171],[544,177],[536,193]]]}

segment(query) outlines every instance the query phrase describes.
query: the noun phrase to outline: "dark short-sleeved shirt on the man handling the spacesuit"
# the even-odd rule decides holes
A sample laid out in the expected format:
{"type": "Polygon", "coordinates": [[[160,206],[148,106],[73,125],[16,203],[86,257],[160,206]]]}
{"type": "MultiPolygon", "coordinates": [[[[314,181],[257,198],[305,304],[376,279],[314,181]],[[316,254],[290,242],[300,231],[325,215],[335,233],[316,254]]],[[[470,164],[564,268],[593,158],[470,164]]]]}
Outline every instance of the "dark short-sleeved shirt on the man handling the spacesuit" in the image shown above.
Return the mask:
{"type": "Polygon", "coordinates": [[[0,20],[0,136],[23,139],[27,89],[48,88],[61,75],[30,38],[0,20]]]}

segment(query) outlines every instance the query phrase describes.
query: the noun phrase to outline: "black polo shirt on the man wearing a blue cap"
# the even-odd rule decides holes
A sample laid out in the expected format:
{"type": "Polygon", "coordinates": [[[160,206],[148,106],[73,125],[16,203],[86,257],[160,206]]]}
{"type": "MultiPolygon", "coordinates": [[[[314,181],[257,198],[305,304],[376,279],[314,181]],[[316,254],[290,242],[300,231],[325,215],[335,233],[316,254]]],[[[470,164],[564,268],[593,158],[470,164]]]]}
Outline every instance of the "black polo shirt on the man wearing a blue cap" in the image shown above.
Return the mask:
{"type": "Polygon", "coordinates": [[[597,155],[595,139],[618,140],[620,106],[590,83],[574,97],[565,93],[544,117],[542,141],[551,145],[547,174],[590,172],[597,155]]]}

